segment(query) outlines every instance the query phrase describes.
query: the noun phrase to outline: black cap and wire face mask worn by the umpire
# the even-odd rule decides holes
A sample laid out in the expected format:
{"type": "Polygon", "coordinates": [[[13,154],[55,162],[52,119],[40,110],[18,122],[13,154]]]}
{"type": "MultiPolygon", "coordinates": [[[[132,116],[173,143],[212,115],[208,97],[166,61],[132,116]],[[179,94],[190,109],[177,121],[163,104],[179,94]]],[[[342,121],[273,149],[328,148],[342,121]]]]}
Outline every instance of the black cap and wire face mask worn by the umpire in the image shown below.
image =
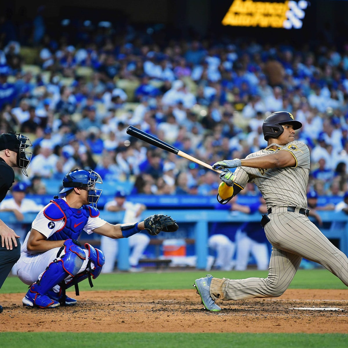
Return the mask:
{"type": "Polygon", "coordinates": [[[10,132],[0,135],[0,151],[9,149],[16,152],[17,166],[18,168],[22,168],[22,172],[25,176],[28,176],[26,168],[29,166],[32,156],[32,152],[26,151],[30,146],[32,146],[32,144],[29,138],[23,134],[10,132]]]}

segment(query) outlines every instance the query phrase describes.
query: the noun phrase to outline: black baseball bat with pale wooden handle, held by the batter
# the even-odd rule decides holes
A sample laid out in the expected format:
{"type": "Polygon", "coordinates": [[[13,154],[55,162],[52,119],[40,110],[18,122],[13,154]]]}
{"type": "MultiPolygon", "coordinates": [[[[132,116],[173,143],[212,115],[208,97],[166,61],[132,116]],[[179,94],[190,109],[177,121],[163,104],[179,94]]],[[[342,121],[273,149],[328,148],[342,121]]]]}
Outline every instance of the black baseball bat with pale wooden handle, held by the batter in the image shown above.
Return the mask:
{"type": "Polygon", "coordinates": [[[216,172],[216,173],[221,173],[221,171],[217,170],[217,169],[213,169],[213,167],[207,163],[204,163],[203,161],[200,161],[199,159],[192,157],[190,155],[188,155],[185,152],[180,151],[179,149],[173,147],[172,145],[167,144],[166,142],[164,142],[163,140],[160,140],[158,138],[156,138],[153,135],[150,135],[148,133],[143,132],[143,130],[140,130],[138,128],[135,128],[133,126],[129,126],[127,128],[127,134],[132,135],[148,144],[151,144],[153,146],[156,146],[160,149],[166,150],[168,152],[172,152],[175,153],[175,155],[181,156],[183,158],[186,158],[192,162],[195,162],[203,167],[206,167],[208,169],[211,169],[212,171],[216,172]]]}

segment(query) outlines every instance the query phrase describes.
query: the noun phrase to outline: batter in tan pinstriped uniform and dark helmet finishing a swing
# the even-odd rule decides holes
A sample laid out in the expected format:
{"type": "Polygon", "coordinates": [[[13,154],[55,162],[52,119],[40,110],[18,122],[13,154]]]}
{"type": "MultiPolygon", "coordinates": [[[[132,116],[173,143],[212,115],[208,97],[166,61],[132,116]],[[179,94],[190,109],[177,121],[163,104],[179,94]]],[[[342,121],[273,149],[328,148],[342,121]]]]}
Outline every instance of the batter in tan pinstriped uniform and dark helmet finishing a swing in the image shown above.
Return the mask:
{"type": "Polygon", "coordinates": [[[214,303],[221,300],[242,300],[254,297],[277,297],[284,293],[302,257],[318,262],[348,286],[348,259],[308,219],[307,183],[309,150],[295,141],[295,130],[301,128],[292,114],[279,111],[270,114],[262,125],[268,146],[244,159],[216,162],[220,174],[217,200],[226,204],[231,197],[254,182],[266,200],[268,215],[261,225],[272,254],[267,278],[226,279],[207,276],[195,280],[197,292],[206,309],[219,311],[214,303]],[[227,168],[236,168],[232,174],[227,168]]]}

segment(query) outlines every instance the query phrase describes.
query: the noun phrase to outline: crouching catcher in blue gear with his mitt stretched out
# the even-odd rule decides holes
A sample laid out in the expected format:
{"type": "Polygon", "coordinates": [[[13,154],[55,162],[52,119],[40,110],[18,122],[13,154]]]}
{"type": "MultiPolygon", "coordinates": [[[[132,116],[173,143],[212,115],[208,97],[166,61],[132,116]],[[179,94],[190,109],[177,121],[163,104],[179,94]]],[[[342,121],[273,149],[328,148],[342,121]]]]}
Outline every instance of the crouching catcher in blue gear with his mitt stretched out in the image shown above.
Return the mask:
{"type": "Polygon", "coordinates": [[[99,216],[96,208],[102,184],[94,171],[74,169],[63,179],[64,198],[46,205],[32,223],[17,262],[17,275],[30,285],[23,305],[52,308],[76,304],[65,295],[65,289],[85,278],[95,279],[105,262],[103,253],[92,245],[77,242],[82,230],[110,238],[127,238],[141,230],[151,235],[173,232],[178,226],[170,216],[152,215],[142,222],[112,225],[99,216]]]}

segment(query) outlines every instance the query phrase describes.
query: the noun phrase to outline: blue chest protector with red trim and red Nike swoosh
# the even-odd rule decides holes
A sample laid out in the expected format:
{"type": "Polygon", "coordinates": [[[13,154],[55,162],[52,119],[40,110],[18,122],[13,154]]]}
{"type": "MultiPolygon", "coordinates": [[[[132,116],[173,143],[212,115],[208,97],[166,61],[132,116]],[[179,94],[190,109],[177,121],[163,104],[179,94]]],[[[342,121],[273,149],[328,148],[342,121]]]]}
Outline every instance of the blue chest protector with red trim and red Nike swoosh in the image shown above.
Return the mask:
{"type": "MultiPolygon", "coordinates": [[[[51,200],[51,204],[44,210],[44,215],[52,223],[64,219],[64,227],[56,231],[48,240],[77,240],[86,226],[88,218],[99,216],[99,211],[89,205],[83,205],[79,209],[71,208],[64,199],[58,198],[51,200]]],[[[48,224],[48,228],[50,228],[50,224],[54,227],[52,223],[48,224]]]]}

